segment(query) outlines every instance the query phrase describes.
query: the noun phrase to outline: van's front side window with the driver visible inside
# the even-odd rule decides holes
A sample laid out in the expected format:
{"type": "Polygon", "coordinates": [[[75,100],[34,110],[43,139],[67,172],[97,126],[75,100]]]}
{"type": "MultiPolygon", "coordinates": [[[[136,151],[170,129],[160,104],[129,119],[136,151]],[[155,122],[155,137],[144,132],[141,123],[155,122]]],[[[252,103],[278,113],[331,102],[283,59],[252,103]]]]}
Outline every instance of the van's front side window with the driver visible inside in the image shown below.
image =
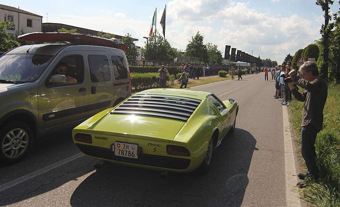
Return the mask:
{"type": "Polygon", "coordinates": [[[79,84],[84,81],[84,61],[81,55],[68,55],[63,57],[54,66],[48,80],[55,74],[66,76],[66,83],[46,82],[46,86],[55,87],[64,84],[79,84]]]}

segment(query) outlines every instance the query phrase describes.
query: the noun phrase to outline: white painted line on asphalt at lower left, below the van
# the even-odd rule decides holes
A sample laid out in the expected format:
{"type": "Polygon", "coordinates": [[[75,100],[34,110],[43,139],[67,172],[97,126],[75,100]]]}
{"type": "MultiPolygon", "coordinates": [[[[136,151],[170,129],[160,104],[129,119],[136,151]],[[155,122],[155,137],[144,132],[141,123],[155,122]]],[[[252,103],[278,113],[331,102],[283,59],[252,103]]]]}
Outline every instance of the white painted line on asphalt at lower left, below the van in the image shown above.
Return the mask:
{"type": "Polygon", "coordinates": [[[23,175],[23,176],[21,176],[19,178],[13,179],[13,180],[11,180],[11,181],[9,181],[7,183],[1,184],[0,185],[0,192],[5,190],[5,189],[7,189],[7,188],[9,188],[9,187],[12,187],[12,186],[17,185],[17,184],[19,184],[21,182],[24,182],[24,181],[26,181],[26,180],[28,180],[30,178],[33,178],[33,177],[38,176],[40,174],[43,174],[43,173],[45,173],[45,172],[47,172],[47,171],[49,171],[51,169],[54,169],[54,168],[56,168],[58,166],[61,166],[61,165],[65,164],[65,163],[67,163],[67,162],[73,161],[74,159],[77,159],[77,158],[79,158],[79,157],[81,157],[83,155],[84,154],[81,153],[81,152],[77,153],[77,154],[74,154],[74,155],[72,155],[70,157],[67,157],[67,158],[62,159],[60,161],[57,161],[57,162],[55,162],[55,163],[53,163],[51,165],[45,166],[45,167],[43,167],[41,169],[38,169],[36,171],[33,171],[33,172],[28,173],[26,175],[23,175]]]}

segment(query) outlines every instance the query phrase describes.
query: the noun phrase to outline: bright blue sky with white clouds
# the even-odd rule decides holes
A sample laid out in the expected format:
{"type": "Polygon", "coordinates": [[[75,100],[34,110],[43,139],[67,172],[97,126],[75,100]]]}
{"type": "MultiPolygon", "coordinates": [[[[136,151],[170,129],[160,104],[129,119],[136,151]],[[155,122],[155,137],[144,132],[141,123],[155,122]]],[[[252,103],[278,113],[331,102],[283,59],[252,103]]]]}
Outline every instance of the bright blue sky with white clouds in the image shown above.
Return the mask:
{"type": "MultiPolygon", "coordinates": [[[[321,37],[323,11],[316,0],[15,0],[1,4],[43,16],[42,22],[78,27],[137,38],[145,46],[152,15],[157,9],[156,29],[166,5],[165,38],[185,51],[197,31],[203,43],[216,44],[224,57],[225,45],[261,59],[281,64],[321,37]]],[[[334,0],[330,12],[339,10],[334,0]]],[[[231,49],[230,49],[231,50],[231,49]]]]}

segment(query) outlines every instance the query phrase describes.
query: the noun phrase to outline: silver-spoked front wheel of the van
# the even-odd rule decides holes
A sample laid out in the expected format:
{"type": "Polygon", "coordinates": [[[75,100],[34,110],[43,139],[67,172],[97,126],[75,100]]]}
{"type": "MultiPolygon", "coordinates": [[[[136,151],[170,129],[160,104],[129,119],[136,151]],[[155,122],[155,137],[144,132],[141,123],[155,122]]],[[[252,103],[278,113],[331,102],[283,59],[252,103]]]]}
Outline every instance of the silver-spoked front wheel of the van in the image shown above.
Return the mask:
{"type": "Polygon", "coordinates": [[[33,145],[33,132],[28,124],[12,121],[1,126],[0,160],[5,164],[21,161],[33,145]]]}

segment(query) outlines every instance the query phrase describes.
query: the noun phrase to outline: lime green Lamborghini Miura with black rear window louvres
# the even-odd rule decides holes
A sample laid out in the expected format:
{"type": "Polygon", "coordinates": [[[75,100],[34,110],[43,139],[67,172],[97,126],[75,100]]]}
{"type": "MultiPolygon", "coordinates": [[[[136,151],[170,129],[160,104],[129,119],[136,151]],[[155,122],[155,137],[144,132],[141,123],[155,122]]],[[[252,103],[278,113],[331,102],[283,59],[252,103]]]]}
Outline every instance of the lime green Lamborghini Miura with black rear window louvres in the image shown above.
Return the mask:
{"type": "Polygon", "coordinates": [[[160,171],[206,172],[212,152],[235,128],[238,104],[210,92],[148,89],[88,118],[72,131],[86,155],[160,171]]]}

